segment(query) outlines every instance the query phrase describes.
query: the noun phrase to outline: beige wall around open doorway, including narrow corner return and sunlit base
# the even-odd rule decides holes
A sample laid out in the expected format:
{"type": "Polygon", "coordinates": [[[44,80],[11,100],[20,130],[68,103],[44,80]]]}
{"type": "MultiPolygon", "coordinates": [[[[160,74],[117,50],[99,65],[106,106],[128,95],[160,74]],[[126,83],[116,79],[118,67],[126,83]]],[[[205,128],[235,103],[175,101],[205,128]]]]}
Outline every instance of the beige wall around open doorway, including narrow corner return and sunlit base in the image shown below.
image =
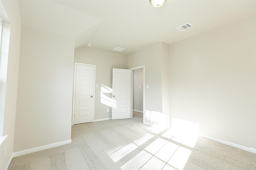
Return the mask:
{"type": "Polygon", "coordinates": [[[145,84],[149,85],[149,88],[145,89],[145,121],[149,124],[158,123],[158,125],[164,124],[168,126],[170,125],[170,119],[168,118],[169,113],[165,112],[165,108],[169,106],[168,103],[166,103],[167,106],[163,107],[162,102],[163,94],[166,93],[162,86],[163,78],[167,78],[164,82],[168,82],[166,74],[162,74],[162,71],[167,69],[166,65],[168,64],[164,64],[165,68],[162,68],[163,61],[166,60],[166,54],[168,56],[168,48],[166,47],[168,47],[167,44],[160,42],[141,49],[140,51],[128,55],[127,63],[129,68],[145,65],[145,84]],[[150,116],[147,116],[149,114],[150,116]],[[153,120],[152,117],[161,118],[153,120]]]}

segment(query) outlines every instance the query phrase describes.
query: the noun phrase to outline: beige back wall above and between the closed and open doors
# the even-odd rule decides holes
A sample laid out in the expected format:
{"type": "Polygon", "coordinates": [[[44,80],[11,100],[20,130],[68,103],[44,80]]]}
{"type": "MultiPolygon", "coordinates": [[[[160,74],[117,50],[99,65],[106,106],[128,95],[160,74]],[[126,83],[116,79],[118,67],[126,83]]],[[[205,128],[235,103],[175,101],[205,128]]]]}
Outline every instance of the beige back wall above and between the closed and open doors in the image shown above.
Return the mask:
{"type": "MultiPolygon", "coordinates": [[[[96,84],[98,84],[98,88],[95,88],[94,119],[110,118],[112,116],[112,108],[101,101],[100,89],[102,85],[112,88],[112,69],[127,68],[126,55],[92,47],[80,47],[75,49],[74,61],[96,65],[96,84]],[[109,109],[109,112],[107,112],[107,109],[109,109]]],[[[112,93],[104,95],[112,98],[112,93]]]]}

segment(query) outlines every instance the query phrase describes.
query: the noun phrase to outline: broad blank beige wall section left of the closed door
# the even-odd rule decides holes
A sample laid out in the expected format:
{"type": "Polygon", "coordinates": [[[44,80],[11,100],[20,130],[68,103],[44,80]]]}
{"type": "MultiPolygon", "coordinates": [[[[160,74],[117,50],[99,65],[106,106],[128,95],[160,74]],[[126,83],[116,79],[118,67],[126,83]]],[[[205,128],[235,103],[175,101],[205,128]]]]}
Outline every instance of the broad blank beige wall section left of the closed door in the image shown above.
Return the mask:
{"type": "Polygon", "coordinates": [[[22,25],[14,152],[71,139],[74,38],[22,25]]]}

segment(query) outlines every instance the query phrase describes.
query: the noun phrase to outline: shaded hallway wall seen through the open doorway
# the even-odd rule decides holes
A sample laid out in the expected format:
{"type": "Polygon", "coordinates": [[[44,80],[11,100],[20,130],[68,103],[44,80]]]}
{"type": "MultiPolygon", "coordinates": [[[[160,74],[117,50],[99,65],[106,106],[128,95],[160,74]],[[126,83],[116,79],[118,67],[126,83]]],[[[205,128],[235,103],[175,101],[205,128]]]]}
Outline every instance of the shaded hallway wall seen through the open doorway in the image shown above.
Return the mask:
{"type": "Polygon", "coordinates": [[[143,68],[133,71],[133,109],[143,112],[143,68]]]}

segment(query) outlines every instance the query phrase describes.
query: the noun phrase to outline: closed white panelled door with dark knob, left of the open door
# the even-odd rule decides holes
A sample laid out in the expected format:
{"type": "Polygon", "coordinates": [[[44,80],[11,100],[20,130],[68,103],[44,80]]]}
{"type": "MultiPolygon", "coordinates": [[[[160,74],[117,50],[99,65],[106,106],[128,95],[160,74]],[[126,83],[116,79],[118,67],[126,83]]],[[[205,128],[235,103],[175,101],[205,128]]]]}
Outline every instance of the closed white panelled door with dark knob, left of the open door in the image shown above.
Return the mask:
{"type": "Polygon", "coordinates": [[[95,66],[75,64],[74,124],[93,121],[95,66]]]}

